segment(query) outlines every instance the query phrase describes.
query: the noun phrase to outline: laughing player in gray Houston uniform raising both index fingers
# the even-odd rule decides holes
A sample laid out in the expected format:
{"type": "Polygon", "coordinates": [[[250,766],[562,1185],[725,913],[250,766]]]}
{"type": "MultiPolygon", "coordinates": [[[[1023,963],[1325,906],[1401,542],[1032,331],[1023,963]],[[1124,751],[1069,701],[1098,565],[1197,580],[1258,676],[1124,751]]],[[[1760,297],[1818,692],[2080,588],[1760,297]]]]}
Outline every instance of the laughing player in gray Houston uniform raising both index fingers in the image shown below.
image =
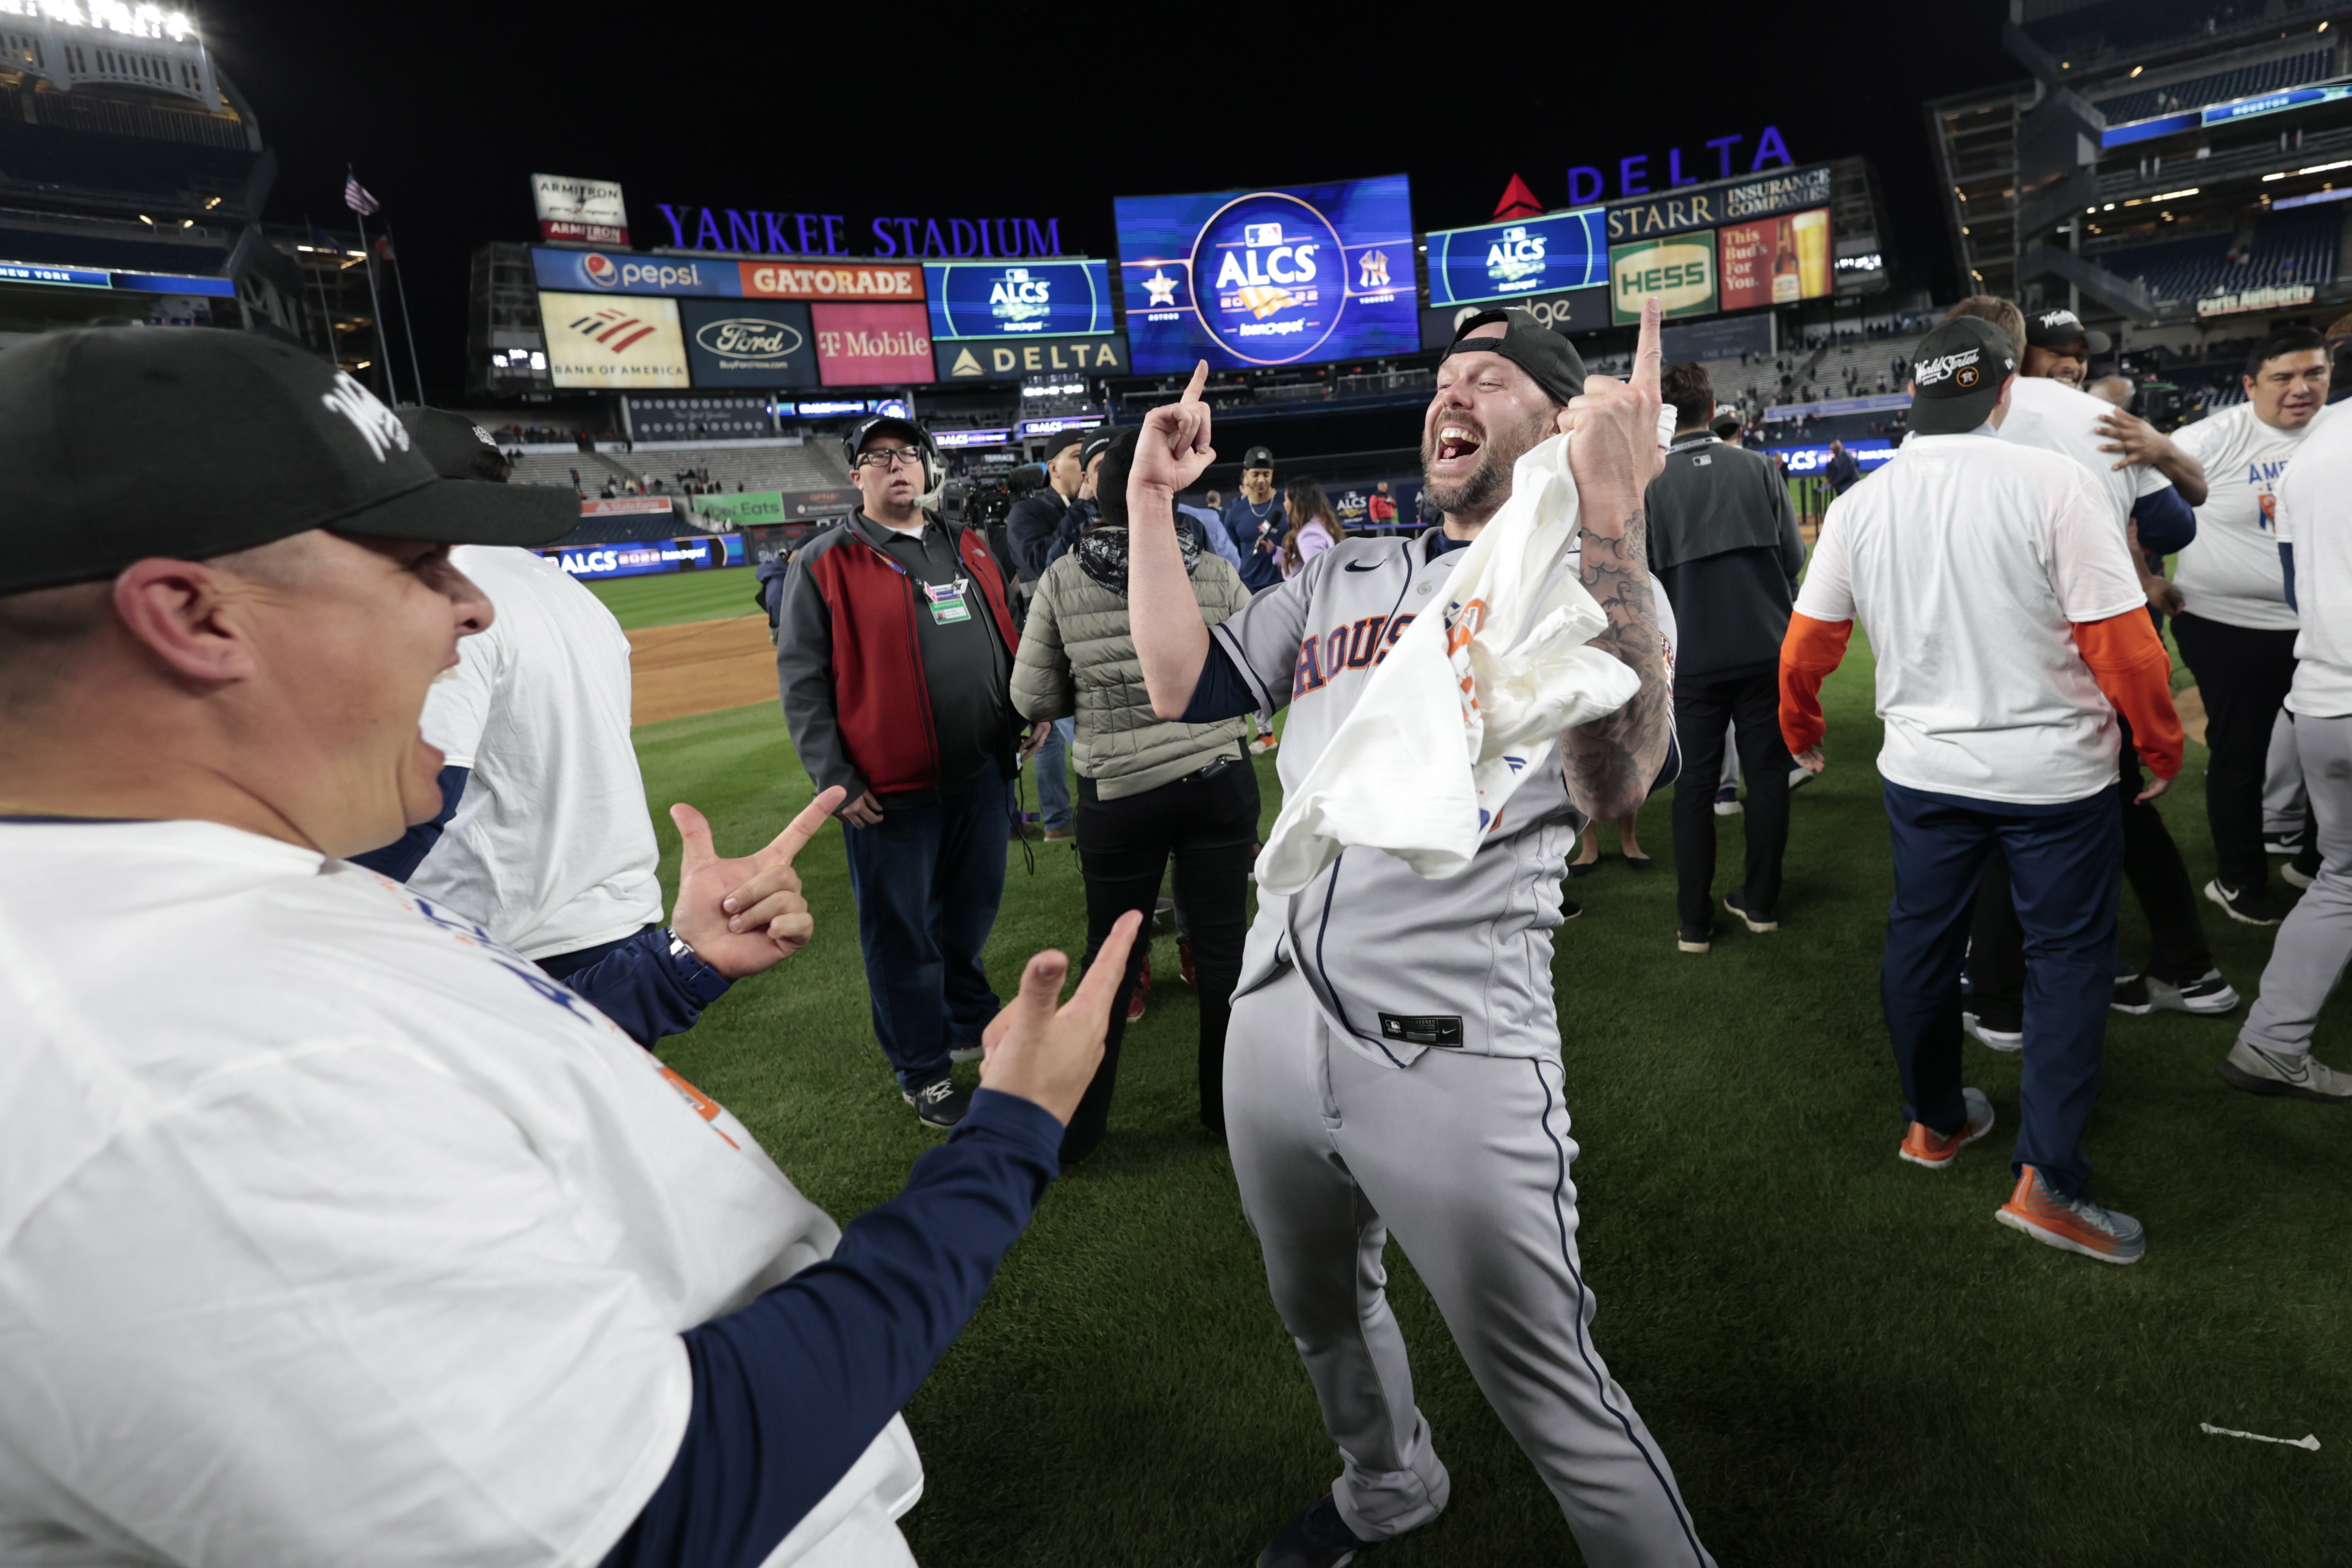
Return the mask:
{"type": "Polygon", "coordinates": [[[1670,750],[1642,522],[1658,468],[1658,308],[1644,310],[1632,383],[1588,378],[1526,310],[1470,317],[1437,367],[1421,437],[1444,524],[1341,541],[1216,628],[1185,583],[1171,515],[1171,496],[1216,458],[1204,376],[1148,416],[1127,489],[1136,654],[1162,717],[1289,705],[1282,783],[1296,790],[1381,649],[1444,604],[1446,557],[1510,498],[1512,463],[1555,430],[1576,433],[1576,571],[1609,616],[1595,646],[1642,677],[1616,715],[1562,736],[1562,766],[1519,785],[1461,877],[1425,882],[1350,849],[1303,893],[1258,898],[1225,1124],[1275,1307],[1343,1460],[1331,1495],[1284,1521],[1258,1563],[1336,1568],[1446,1505],[1383,1293],[1395,1229],[1585,1561],[1705,1566],[1675,1472],[1592,1345],[1550,983],[1576,832],[1639,806],[1670,750]]]}

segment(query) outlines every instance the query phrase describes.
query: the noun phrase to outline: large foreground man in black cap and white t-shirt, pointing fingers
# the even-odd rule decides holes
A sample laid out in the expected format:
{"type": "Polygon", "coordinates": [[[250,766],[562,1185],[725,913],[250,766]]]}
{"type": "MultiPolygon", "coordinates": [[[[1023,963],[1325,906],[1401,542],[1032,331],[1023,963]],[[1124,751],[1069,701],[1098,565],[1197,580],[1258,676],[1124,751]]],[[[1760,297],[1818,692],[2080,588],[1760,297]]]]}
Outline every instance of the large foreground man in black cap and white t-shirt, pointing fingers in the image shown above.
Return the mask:
{"type": "MultiPolygon", "coordinates": [[[[449,545],[550,543],[569,489],[445,482],[350,376],[193,327],[9,348],[0,463],[0,1540],[682,1568],[807,1523],[880,1561],[922,1486],[896,1410],[1054,1180],[1134,922],[1058,1016],[1030,964],[955,1143],[844,1234],[343,858],[440,809],[419,710],[494,623],[449,545]]],[[[835,802],[746,860],[687,832],[701,959],[809,938],[835,802]]]]}

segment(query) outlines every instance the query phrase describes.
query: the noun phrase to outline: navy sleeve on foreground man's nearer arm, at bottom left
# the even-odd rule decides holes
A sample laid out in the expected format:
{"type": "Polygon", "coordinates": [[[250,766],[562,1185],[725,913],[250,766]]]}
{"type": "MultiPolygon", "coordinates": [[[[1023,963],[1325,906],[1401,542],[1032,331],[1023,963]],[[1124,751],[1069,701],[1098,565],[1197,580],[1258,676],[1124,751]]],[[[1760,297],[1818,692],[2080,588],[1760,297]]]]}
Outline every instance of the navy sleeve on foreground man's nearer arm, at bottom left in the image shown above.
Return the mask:
{"type": "Polygon", "coordinates": [[[1061,1168],[1061,1121],[995,1091],[833,1258],[684,1333],[694,1408],[604,1568],[757,1568],[962,1333],[1061,1168]]]}

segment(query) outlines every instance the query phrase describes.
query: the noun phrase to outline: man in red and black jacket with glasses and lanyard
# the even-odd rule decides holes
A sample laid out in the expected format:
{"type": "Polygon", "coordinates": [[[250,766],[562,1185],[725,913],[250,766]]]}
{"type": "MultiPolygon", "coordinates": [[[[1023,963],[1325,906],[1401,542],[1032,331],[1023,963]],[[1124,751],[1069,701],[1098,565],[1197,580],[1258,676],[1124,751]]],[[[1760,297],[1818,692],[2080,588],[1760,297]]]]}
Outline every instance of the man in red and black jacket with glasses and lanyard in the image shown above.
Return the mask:
{"type": "Polygon", "coordinates": [[[800,764],[844,790],[875,1039],[915,1117],[950,1128],[971,1105],[950,1063],[978,1058],[997,1013],[981,947],[1014,825],[1021,635],[981,534],[924,510],[931,437],[877,414],[842,449],[863,503],[793,557],[776,686],[800,764]]]}

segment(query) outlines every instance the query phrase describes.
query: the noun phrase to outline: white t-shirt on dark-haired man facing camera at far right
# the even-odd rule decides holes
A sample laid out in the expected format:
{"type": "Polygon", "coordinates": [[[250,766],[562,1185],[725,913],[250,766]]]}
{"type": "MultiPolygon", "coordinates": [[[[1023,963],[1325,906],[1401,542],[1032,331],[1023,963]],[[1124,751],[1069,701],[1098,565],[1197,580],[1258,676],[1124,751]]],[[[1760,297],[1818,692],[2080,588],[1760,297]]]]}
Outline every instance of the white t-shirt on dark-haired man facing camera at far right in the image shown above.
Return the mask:
{"type": "Polygon", "coordinates": [[[2173,430],[2173,442],[2206,470],[2197,538],[2173,571],[2187,614],[2265,632],[2296,630],[2272,512],[2279,475],[2307,435],[2310,425],[2265,425],[2251,402],[2173,430]]]}

